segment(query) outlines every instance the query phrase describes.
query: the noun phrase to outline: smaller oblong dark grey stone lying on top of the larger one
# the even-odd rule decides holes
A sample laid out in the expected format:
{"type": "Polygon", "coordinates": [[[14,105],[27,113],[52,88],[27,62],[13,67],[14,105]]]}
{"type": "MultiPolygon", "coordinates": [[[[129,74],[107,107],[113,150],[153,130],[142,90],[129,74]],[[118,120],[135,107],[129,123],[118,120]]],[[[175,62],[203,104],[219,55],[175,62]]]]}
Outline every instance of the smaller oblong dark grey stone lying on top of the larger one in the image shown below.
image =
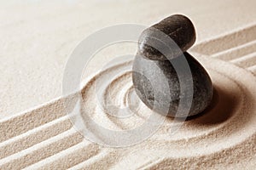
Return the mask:
{"type": "Polygon", "coordinates": [[[174,59],[195,42],[195,27],[182,14],[174,14],[143,31],[138,54],[152,60],[174,59]]]}

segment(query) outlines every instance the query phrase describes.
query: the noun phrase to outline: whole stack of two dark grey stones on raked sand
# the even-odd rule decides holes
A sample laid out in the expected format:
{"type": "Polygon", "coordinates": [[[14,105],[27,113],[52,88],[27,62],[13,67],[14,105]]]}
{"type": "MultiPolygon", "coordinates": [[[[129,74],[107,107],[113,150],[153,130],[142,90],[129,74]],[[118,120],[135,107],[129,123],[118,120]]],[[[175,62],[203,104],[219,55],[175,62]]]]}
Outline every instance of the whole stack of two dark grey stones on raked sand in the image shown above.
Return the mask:
{"type": "Polygon", "coordinates": [[[133,63],[132,81],[138,97],[150,109],[165,116],[184,117],[195,116],[210,105],[211,78],[186,52],[194,43],[195,27],[181,14],[167,17],[143,31],[133,63]],[[177,71],[177,67],[181,70],[177,71]],[[180,78],[188,82],[183,91],[180,78]],[[188,101],[188,106],[183,103],[177,114],[181,100],[188,101]]]}

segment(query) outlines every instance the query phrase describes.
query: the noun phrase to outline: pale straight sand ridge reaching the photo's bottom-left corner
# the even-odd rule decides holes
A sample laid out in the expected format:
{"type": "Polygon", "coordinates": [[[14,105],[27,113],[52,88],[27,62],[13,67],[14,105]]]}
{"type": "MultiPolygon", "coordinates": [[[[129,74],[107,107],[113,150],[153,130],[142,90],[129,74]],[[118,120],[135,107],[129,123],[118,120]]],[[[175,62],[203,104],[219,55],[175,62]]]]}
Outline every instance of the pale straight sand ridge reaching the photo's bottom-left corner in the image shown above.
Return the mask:
{"type": "Polygon", "coordinates": [[[66,150],[75,144],[79,144],[83,139],[84,137],[80,133],[71,128],[26,150],[3,158],[0,160],[0,169],[20,169],[27,167],[49,156],[53,156],[61,150],[66,150]]]}

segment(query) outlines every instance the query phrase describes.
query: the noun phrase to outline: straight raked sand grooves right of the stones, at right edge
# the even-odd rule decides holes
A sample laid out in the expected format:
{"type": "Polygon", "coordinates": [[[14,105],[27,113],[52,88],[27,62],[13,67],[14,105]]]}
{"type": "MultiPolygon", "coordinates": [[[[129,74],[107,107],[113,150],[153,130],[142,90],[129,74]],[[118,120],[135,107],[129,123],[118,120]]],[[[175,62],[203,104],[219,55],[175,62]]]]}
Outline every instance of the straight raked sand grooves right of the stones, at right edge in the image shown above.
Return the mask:
{"type": "Polygon", "coordinates": [[[230,61],[256,74],[256,24],[195,46],[192,51],[230,61]],[[214,48],[212,48],[214,47],[214,48]]]}

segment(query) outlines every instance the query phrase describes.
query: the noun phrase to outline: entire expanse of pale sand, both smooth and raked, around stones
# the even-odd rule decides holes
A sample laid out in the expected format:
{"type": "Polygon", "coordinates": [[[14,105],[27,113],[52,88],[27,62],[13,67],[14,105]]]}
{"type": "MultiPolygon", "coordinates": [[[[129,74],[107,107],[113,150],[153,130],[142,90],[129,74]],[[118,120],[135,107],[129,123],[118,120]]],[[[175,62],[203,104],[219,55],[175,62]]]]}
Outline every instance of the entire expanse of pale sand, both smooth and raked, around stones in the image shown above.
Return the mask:
{"type": "MultiPolygon", "coordinates": [[[[117,5],[117,2],[109,2],[99,4],[100,7],[105,7],[102,13],[115,16],[114,12],[110,12],[110,8],[113,8],[113,4],[117,5]]],[[[126,6],[133,3],[120,4],[126,6]]],[[[153,9],[150,13],[147,12],[147,7],[154,7],[154,2],[137,3],[133,5],[136,8],[131,9],[131,14],[122,13],[124,7],[119,8],[119,15],[124,17],[126,22],[137,21],[146,25],[151,24],[152,20],[160,20],[171,9],[173,12],[182,11],[193,17],[199,36],[198,42],[190,52],[207,68],[215,88],[212,105],[205,114],[185,122],[174,135],[170,135],[170,124],[173,120],[169,118],[149,139],[119,149],[84,139],[73,127],[63,105],[63,101],[71,99],[72,96],[61,98],[59,88],[65,60],[76,44],[96,28],[106,26],[104,23],[111,26],[113,23],[123,22],[124,18],[116,16],[101,24],[95,23],[104,18],[101,14],[96,15],[95,21],[90,20],[90,17],[72,20],[85,8],[89,11],[96,10],[98,3],[90,3],[87,6],[84,3],[63,3],[62,6],[57,5],[59,10],[53,8],[55,2],[40,3],[42,6],[38,10],[31,8],[35,3],[27,3],[24,6],[5,4],[8,7],[6,11],[12,12],[13,15],[9,16],[10,20],[3,20],[1,27],[1,35],[3,34],[3,40],[6,40],[2,42],[2,48],[9,52],[2,54],[1,58],[1,61],[5,62],[1,67],[1,77],[4,79],[0,84],[3,90],[1,101],[4,101],[1,102],[0,111],[1,116],[3,115],[0,120],[0,168],[253,169],[256,162],[256,37],[253,34],[256,23],[253,19],[255,17],[252,17],[255,14],[254,6],[253,1],[244,6],[232,1],[231,7],[225,8],[226,3],[228,2],[219,1],[211,5],[201,3],[195,8],[183,9],[183,2],[168,8],[161,4],[162,11],[153,9]],[[25,24],[19,15],[15,15],[19,14],[21,7],[27,9],[22,9],[25,13],[22,15],[23,20],[26,20],[25,24]],[[49,14],[43,14],[44,9],[47,9],[49,14]],[[247,13],[241,12],[245,9],[247,13]],[[62,16],[65,12],[67,15],[62,16]],[[137,12],[142,15],[136,15],[137,12]],[[229,14],[237,17],[236,20],[226,23],[224,21],[229,19],[229,14]],[[216,18],[219,22],[222,21],[222,26],[212,26],[212,22],[217,22],[216,18]],[[91,25],[83,26],[83,21],[80,20],[90,20],[87,24],[91,25]],[[68,30],[73,25],[75,29],[68,30]],[[29,34],[23,31],[28,31],[29,34]],[[48,34],[41,35],[42,33],[48,34]],[[49,37],[55,38],[51,40],[49,37]],[[45,47],[44,50],[42,46],[45,47]],[[32,48],[28,50],[28,47],[32,48]],[[61,50],[56,50],[56,47],[61,50]],[[15,50],[10,50],[14,48],[15,50]],[[38,106],[34,107],[35,105],[38,106]]],[[[136,50],[133,47],[131,45],[129,49],[123,50],[136,50]]],[[[111,56],[113,51],[108,49],[102,55],[111,56]]],[[[119,53],[120,51],[123,52],[119,50],[119,53]]],[[[102,59],[102,63],[108,60],[102,59]]],[[[131,62],[120,63],[119,66],[131,65],[131,62]]],[[[97,66],[100,67],[101,63],[97,66]]],[[[90,77],[97,76],[93,69],[96,70],[96,67],[87,73],[90,77]]],[[[115,72],[115,69],[116,67],[112,67],[110,70],[115,72]]],[[[101,74],[108,76],[109,71],[102,71],[101,74]]],[[[97,109],[98,105],[93,102],[94,79],[87,77],[86,73],[84,79],[81,89],[83,111],[91,114],[102,126],[116,130],[130,129],[139,126],[150,113],[142,105],[141,110],[127,121],[110,119],[106,112],[104,114],[104,111],[97,109]]],[[[112,84],[112,88],[104,89],[112,92],[111,99],[128,105],[132,96],[131,72],[123,72],[115,81],[108,83],[112,84]],[[126,86],[122,86],[123,84],[126,86]]],[[[105,101],[108,101],[108,98],[105,98],[105,101]]]]}

